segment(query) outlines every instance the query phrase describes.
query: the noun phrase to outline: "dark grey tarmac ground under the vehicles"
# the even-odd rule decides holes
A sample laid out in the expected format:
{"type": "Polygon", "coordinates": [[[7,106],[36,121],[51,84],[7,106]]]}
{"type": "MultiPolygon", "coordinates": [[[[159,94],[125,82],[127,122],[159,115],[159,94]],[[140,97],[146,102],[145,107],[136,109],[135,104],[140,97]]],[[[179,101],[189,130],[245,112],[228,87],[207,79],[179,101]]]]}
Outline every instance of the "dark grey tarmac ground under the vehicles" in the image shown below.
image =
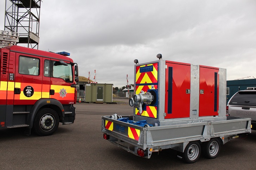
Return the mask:
{"type": "Polygon", "coordinates": [[[215,159],[202,155],[193,164],[177,158],[176,151],[153,152],[150,159],[135,156],[103,139],[101,116],[132,115],[128,99],[114,98],[117,104],[77,103],[73,124],[59,124],[51,136],[23,134],[23,128],[0,130],[0,169],[62,170],[169,170],[169,169],[247,169],[256,168],[256,131],[221,145],[215,159]]]}

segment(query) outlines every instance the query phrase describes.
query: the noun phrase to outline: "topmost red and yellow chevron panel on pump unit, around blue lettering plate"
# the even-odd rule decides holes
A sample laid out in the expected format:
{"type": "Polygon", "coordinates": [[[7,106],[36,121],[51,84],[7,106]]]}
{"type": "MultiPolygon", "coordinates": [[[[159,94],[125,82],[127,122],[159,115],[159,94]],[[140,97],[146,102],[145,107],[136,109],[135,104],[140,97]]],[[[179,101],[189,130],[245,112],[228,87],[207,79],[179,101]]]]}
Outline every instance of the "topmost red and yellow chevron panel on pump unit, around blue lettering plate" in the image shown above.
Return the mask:
{"type": "Polygon", "coordinates": [[[145,84],[145,83],[157,83],[158,82],[158,63],[146,64],[143,66],[136,67],[136,84],[145,84]],[[140,68],[145,66],[153,65],[152,72],[140,73],[140,68]]]}

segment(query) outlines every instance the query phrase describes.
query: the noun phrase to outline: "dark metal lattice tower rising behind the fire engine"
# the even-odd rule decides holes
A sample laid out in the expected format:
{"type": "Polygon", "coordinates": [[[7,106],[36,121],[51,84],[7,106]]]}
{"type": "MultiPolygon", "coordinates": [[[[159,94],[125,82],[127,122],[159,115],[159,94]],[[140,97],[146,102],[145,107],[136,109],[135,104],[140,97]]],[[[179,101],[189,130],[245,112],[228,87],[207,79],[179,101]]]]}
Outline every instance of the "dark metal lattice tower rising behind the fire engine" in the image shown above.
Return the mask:
{"type": "Polygon", "coordinates": [[[41,0],[5,0],[5,30],[19,33],[19,43],[37,48],[41,0]]]}

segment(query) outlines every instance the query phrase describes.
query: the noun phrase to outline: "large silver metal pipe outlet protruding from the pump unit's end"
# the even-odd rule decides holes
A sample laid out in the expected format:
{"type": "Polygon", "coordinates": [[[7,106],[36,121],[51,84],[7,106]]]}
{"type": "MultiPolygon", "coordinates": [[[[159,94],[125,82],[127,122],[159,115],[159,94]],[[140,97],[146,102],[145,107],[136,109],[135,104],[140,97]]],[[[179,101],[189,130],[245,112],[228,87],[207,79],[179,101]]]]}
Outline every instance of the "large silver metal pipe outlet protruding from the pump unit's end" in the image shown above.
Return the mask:
{"type": "Polygon", "coordinates": [[[129,99],[129,105],[139,109],[139,113],[142,113],[143,102],[147,105],[154,101],[155,97],[149,92],[144,92],[143,90],[139,94],[135,94],[133,98],[129,99]]]}

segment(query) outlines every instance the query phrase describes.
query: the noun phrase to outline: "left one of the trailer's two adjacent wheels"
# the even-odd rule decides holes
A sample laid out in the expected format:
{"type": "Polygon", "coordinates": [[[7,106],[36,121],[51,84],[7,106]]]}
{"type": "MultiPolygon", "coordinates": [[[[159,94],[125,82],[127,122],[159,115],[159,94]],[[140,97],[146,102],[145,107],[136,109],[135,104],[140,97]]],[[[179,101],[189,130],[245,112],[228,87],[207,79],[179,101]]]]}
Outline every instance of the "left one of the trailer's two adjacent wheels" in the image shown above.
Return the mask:
{"type": "Polygon", "coordinates": [[[186,163],[197,162],[201,154],[201,146],[198,142],[193,141],[187,144],[184,152],[183,158],[186,163]]]}

